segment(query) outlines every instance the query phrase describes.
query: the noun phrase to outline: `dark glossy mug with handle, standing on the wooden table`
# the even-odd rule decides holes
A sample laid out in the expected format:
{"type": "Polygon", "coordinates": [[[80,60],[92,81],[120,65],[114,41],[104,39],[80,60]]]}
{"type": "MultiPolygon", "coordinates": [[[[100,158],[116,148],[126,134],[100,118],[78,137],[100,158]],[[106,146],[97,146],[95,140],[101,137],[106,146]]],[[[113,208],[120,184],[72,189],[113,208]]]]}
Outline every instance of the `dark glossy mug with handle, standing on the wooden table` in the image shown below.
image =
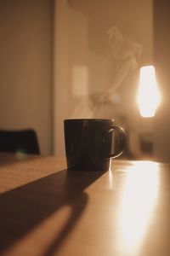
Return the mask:
{"type": "Polygon", "coordinates": [[[64,129],[69,170],[107,171],[125,147],[125,133],[113,119],[65,119],[64,129]]]}

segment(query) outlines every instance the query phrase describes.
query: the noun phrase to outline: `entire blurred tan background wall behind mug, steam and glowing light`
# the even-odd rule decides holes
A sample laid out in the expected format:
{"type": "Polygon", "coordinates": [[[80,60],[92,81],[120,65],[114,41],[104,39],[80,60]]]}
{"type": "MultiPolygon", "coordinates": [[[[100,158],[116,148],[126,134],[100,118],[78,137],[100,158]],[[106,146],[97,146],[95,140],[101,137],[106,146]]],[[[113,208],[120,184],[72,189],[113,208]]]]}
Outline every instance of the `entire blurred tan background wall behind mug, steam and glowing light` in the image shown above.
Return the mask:
{"type": "Polygon", "coordinates": [[[127,132],[124,157],[169,161],[169,7],[166,0],[1,0],[0,129],[33,128],[42,154],[64,154],[63,119],[110,88],[107,32],[117,26],[143,50],[102,118],[127,132]],[[144,118],[139,69],[150,65],[161,104],[144,118]]]}

